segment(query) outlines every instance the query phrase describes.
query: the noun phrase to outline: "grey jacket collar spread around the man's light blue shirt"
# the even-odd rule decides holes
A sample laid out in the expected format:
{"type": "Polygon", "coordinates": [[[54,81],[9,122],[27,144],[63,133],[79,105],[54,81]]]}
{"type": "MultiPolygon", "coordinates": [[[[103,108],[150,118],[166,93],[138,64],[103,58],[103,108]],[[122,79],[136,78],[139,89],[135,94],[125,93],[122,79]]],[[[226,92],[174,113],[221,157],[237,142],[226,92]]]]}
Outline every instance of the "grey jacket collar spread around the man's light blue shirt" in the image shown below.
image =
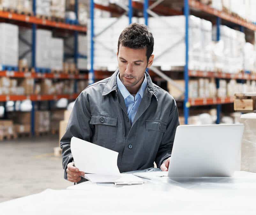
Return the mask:
{"type": "MultiPolygon", "coordinates": [[[[105,96],[105,95],[117,90],[117,74],[118,74],[118,72],[119,72],[119,69],[117,69],[116,72],[113,75],[111,75],[108,83],[106,84],[106,86],[102,92],[102,96],[105,96]]],[[[147,77],[147,89],[151,94],[153,94],[155,96],[155,98],[157,100],[157,93],[156,93],[154,84],[147,72],[146,72],[146,77],[147,77]]]]}

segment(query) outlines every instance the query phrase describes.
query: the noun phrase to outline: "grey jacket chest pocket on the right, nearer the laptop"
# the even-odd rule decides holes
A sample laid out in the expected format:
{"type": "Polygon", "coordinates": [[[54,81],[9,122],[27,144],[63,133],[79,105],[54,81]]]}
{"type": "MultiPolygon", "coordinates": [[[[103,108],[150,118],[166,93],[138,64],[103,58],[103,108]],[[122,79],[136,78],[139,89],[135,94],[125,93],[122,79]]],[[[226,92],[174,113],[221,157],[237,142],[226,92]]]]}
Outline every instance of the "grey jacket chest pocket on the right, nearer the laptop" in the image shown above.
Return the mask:
{"type": "Polygon", "coordinates": [[[144,148],[147,152],[158,149],[162,136],[166,132],[167,123],[161,120],[146,120],[146,135],[144,148]]]}

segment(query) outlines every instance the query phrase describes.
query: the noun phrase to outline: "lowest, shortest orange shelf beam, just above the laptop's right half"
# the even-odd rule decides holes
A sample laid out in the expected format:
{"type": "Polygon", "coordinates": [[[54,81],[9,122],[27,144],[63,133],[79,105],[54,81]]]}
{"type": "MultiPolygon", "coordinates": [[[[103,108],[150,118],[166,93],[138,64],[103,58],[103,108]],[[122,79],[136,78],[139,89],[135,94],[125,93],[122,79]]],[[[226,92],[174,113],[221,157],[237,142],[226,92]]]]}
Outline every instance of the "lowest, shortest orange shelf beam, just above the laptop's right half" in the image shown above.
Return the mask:
{"type": "Polygon", "coordinates": [[[233,97],[223,97],[223,98],[190,98],[190,106],[201,106],[201,105],[217,105],[217,104],[228,104],[233,103],[233,97]]]}

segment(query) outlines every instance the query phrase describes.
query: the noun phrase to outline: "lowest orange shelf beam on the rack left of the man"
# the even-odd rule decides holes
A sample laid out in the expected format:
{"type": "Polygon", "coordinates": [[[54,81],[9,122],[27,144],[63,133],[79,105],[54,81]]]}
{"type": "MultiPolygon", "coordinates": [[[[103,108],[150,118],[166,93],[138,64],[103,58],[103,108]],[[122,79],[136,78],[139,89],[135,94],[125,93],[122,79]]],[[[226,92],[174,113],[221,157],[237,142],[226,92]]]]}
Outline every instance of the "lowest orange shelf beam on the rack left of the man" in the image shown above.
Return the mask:
{"type": "Polygon", "coordinates": [[[62,95],[0,95],[0,101],[22,101],[30,99],[31,101],[49,101],[61,98],[76,99],[79,94],[62,94],[62,95]]]}

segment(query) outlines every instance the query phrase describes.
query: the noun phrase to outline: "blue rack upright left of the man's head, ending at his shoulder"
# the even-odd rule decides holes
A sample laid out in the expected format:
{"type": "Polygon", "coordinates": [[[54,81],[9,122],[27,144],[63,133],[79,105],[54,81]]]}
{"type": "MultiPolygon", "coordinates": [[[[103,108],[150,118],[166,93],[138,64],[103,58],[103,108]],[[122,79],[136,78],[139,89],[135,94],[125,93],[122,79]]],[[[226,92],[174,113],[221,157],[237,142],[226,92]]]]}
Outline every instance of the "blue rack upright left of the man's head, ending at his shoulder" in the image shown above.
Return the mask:
{"type": "Polygon", "coordinates": [[[91,18],[91,69],[89,71],[89,84],[94,83],[94,0],[91,0],[90,4],[90,18],[91,18]]]}

